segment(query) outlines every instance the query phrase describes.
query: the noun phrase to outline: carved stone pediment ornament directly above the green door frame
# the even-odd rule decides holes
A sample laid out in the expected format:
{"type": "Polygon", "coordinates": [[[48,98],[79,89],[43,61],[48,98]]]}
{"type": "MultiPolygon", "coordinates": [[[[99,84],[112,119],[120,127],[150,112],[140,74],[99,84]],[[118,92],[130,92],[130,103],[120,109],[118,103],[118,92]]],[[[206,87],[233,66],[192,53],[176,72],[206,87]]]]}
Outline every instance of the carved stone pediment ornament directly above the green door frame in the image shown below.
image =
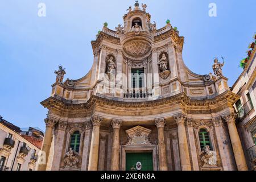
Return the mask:
{"type": "Polygon", "coordinates": [[[126,130],[126,133],[129,135],[129,141],[126,144],[128,146],[151,144],[148,140],[148,135],[151,133],[150,129],[146,129],[142,126],[136,126],[132,129],[126,130]]]}

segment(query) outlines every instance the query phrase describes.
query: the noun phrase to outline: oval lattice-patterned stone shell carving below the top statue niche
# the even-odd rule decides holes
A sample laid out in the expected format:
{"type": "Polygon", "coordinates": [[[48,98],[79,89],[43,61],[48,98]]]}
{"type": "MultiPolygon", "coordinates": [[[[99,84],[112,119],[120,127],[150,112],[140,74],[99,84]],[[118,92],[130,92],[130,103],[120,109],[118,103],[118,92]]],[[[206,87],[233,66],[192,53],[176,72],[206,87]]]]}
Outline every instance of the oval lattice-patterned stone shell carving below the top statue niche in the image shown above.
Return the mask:
{"type": "Polygon", "coordinates": [[[124,51],[130,56],[144,56],[150,49],[150,43],[144,40],[131,40],[123,45],[124,51]]]}

